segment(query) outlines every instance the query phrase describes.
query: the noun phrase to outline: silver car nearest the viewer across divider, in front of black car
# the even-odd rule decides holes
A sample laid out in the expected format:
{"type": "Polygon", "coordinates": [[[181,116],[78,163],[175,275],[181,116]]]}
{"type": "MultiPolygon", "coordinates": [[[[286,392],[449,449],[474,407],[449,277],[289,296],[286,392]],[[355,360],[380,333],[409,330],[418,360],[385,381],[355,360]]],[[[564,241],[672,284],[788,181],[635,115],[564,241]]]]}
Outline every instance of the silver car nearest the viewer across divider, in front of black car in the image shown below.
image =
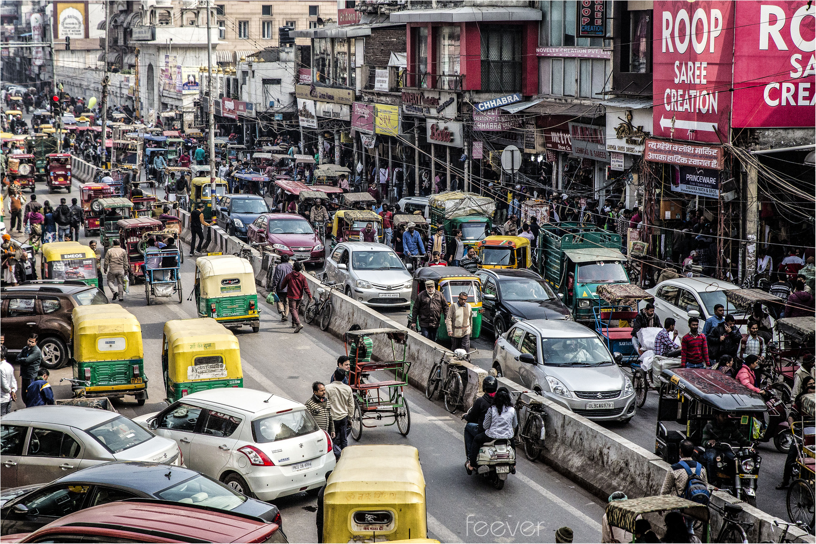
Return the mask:
{"type": "Polygon", "coordinates": [[[521,321],[493,347],[493,367],[595,421],[628,422],[635,414],[632,382],[594,331],[562,320],[521,321]]]}

